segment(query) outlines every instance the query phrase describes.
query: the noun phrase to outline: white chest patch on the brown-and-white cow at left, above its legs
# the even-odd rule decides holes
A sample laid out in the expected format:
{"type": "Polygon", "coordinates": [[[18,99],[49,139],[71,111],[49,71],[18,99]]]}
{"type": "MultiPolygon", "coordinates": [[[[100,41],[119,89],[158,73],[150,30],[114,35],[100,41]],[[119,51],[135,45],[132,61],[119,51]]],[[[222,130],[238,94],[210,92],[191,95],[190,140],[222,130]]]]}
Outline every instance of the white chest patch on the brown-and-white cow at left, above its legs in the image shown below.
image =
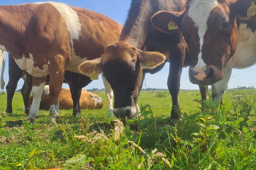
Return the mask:
{"type": "Polygon", "coordinates": [[[33,55],[29,53],[29,58],[25,58],[25,55],[23,54],[21,59],[15,59],[15,62],[18,64],[18,66],[22,70],[26,70],[29,74],[31,74],[34,77],[45,77],[49,74],[49,68],[47,64],[43,65],[43,70],[41,70],[39,67],[34,67],[34,60],[33,55]]]}

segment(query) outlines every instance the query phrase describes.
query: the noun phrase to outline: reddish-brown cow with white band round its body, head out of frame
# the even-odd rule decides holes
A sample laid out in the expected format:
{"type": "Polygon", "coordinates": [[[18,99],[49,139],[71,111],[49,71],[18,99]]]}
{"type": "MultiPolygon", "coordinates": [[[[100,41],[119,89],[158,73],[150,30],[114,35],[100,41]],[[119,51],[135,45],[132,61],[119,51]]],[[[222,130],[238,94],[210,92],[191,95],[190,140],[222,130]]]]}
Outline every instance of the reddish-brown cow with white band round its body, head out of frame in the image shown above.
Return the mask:
{"type": "MultiPolygon", "coordinates": [[[[100,57],[107,44],[117,41],[121,30],[121,24],[102,14],[63,3],[0,6],[0,49],[33,76],[33,103],[27,120],[35,122],[38,116],[49,74],[49,116],[55,122],[65,70],[80,73],[78,65],[100,57]]],[[[111,93],[108,82],[103,82],[105,92],[111,93]]]]}

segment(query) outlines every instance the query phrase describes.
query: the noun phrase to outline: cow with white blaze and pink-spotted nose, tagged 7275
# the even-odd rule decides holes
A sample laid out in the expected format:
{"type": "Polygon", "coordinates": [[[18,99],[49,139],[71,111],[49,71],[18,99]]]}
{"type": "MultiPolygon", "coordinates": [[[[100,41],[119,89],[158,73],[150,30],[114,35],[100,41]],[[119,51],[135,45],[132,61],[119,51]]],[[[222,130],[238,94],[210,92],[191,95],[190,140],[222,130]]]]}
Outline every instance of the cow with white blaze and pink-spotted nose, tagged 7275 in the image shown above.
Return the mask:
{"type": "Polygon", "coordinates": [[[212,85],[212,99],[221,101],[232,68],[256,63],[255,0],[189,0],[183,12],[162,11],[153,23],[163,32],[174,21],[188,44],[189,79],[201,86],[212,85]]]}

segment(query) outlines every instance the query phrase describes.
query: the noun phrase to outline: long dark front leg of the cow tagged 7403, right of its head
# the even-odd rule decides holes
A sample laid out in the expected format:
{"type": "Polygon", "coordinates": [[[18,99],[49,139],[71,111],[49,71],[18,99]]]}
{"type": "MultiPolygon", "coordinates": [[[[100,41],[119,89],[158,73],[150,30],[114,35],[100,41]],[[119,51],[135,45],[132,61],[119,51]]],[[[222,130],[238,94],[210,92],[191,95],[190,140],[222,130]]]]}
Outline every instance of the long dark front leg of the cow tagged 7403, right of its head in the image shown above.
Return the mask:
{"type": "Polygon", "coordinates": [[[172,96],[171,119],[181,120],[182,115],[181,115],[181,111],[179,110],[180,109],[179,91],[180,91],[180,76],[182,72],[185,54],[184,55],[173,54],[173,56],[175,57],[172,57],[170,60],[169,75],[167,80],[168,90],[172,96]]]}

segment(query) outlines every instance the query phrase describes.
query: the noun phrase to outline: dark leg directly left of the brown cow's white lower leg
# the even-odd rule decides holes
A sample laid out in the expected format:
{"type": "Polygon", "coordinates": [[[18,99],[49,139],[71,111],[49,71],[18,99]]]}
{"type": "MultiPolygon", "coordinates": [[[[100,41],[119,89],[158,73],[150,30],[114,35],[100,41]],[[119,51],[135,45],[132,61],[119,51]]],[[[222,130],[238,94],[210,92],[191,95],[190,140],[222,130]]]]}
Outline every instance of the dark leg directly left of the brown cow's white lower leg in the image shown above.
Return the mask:
{"type": "Polygon", "coordinates": [[[32,81],[30,80],[24,80],[24,84],[21,88],[21,94],[24,101],[25,106],[25,113],[29,115],[29,109],[30,109],[30,92],[32,90],[32,81]]]}

